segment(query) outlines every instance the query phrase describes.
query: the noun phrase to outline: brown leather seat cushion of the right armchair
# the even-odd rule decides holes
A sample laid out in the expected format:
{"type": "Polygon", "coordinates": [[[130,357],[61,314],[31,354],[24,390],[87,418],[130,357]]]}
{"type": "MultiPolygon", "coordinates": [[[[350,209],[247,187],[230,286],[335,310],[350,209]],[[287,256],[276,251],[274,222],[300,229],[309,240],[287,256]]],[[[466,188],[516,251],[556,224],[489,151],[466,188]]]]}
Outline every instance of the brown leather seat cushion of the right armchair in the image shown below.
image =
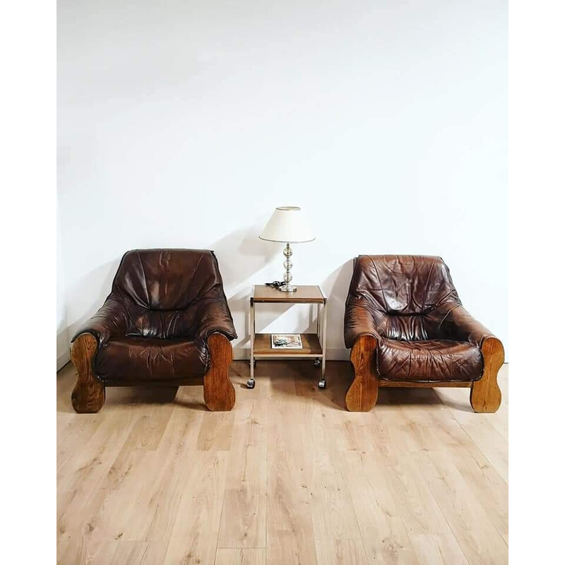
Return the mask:
{"type": "Polygon", "coordinates": [[[379,339],[379,374],[389,381],[477,381],[482,355],[476,345],[449,340],[379,339]]]}

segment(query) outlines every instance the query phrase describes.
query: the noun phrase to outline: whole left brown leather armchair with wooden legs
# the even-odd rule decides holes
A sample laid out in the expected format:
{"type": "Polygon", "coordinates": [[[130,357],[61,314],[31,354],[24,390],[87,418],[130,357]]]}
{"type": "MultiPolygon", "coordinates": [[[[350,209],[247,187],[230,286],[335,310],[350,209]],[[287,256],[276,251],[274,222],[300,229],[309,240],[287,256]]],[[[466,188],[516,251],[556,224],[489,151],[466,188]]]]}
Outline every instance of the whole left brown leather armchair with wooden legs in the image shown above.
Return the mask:
{"type": "Polygon", "coordinates": [[[231,410],[236,338],[213,251],[138,249],[73,338],[76,412],[98,412],[106,386],[203,384],[210,410],[231,410]]]}

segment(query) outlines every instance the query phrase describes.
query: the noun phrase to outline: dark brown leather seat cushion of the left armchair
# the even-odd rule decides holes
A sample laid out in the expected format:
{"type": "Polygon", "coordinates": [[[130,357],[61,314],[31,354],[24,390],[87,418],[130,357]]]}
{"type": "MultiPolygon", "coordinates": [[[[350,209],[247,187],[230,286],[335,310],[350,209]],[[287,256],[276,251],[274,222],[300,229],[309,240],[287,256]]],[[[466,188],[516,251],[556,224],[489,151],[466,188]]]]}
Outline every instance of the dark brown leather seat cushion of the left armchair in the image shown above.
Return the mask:
{"type": "Polygon", "coordinates": [[[112,383],[182,381],[205,374],[207,367],[206,347],[186,339],[110,340],[96,356],[97,376],[112,383]]]}

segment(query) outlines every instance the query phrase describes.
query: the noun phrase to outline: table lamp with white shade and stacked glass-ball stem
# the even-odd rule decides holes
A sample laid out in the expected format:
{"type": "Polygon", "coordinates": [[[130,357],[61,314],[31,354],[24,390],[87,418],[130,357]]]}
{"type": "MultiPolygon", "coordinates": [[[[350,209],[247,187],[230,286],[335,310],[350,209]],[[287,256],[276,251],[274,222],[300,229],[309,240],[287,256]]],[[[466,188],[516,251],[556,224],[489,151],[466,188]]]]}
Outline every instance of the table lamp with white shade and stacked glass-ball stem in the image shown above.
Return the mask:
{"type": "Polygon", "coordinates": [[[283,292],[295,292],[296,287],[290,284],[292,275],[290,269],[292,268],[292,249],[291,243],[306,243],[313,242],[316,237],[312,233],[307,219],[304,217],[304,212],[298,206],[279,206],[275,208],[273,215],[267,222],[263,232],[259,236],[267,242],[280,242],[285,243],[283,255],[285,256],[285,275],[283,277],[285,284],[278,287],[278,290],[283,292]]]}

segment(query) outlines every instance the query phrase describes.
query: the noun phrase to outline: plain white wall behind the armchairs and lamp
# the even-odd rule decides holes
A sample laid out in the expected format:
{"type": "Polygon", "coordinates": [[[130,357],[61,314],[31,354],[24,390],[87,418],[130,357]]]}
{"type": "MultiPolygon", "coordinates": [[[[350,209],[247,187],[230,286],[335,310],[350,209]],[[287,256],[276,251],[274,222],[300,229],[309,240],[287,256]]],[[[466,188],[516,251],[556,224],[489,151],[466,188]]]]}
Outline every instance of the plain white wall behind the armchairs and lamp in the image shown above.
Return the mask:
{"type": "MultiPolygon", "coordinates": [[[[507,6],[484,0],[59,1],[66,320],[100,307],[121,254],[214,249],[239,340],[258,232],[305,208],[295,283],[330,297],[345,358],[357,254],[438,254],[508,351],[507,6]]],[[[302,307],[258,326],[299,331],[302,307]]]]}

